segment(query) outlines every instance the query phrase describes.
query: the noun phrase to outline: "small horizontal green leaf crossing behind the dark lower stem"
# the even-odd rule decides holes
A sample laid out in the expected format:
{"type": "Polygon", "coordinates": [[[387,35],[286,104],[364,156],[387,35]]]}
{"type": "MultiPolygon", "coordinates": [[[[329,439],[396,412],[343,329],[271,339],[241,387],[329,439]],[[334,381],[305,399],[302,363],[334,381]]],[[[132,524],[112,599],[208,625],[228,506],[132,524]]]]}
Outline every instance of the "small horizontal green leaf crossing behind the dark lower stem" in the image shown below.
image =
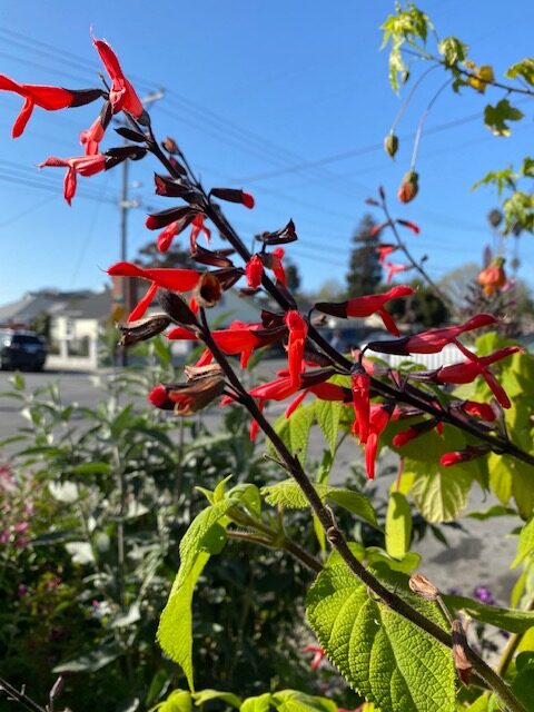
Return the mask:
{"type": "MultiPolygon", "coordinates": [[[[322,502],[337,504],[369,524],[376,525],[375,511],[367,497],[364,497],[359,492],[324,484],[314,486],[322,502]]],[[[273,506],[281,505],[288,510],[306,510],[309,507],[303,491],[294,479],[284,479],[284,482],[279,482],[276,485],[261,487],[261,494],[266,502],[273,506]]]]}

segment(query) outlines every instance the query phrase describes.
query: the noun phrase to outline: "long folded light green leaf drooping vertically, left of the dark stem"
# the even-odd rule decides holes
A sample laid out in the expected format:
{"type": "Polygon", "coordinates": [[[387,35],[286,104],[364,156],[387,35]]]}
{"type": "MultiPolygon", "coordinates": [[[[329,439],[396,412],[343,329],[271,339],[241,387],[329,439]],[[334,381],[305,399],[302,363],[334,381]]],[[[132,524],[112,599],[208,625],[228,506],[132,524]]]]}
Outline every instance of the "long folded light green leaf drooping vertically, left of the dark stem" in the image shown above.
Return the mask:
{"type": "Polygon", "coordinates": [[[224,520],[238,500],[222,500],[200,512],[180,542],[180,568],[161,613],[158,641],[164,652],[184,670],[189,688],[192,680],[191,601],[195,584],[211,554],[218,554],[226,542],[224,520]]]}

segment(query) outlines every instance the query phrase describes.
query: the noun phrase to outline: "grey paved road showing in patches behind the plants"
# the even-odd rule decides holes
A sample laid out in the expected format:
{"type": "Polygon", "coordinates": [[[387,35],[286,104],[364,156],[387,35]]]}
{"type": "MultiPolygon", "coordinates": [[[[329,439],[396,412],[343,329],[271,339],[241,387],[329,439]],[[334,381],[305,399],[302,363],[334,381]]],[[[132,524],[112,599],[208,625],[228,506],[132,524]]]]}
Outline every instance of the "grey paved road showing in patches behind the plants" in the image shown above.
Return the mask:
{"type": "MultiPolygon", "coordinates": [[[[266,377],[274,377],[280,363],[266,362],[263,366],[266,377]]],[[[12,374],[0,372],[0,392],[9,389],[9,378],[12,374]]],[[[95,377],[80,373],[52,373],[24,374],[28,389],[34,389],[49,383],[58,382],[62,400],[67,405],[77,402],[80,405],[93,407],[100,398],[107,397],[107,376],[95,377]]],[[[276,416],[284,409],[284,405],[274,404],[269,409],[269,416],[276,416]]],[[[208,424],[214,431],[220,423],[217,409],[207,415],[208,424]]],[[[0,438],[12,435],[19,427],[26,424],[18,411],[18,404],[13,399],[0,398],[0,438]]],[[[323,439],[312,437],[310,458],[320,458],[323,439]]],[[[1,452],[0,452],[1,458],[1,452]]],[[[395,465],[395,456],[390,453],[383,455],[383,464],[395,465]]],[[[0,459],[1,462],[1,459],[0,459]]],[[[349,472],[350,464],[362,463],[359,447],[354,442],[346,441],[339,452],[335,469],[335,481],[343,481],[349,472]]],[[[377,468],[380,472],[380,466],[377,468]]],[[[378,495],[387,497],[387,488],[393,475],[379,475],[377,478],[378,495]]],[[[483,502],[482,494],[474,492],[469,502],[469,510],[486,508],[492,502],[483,502]]],[[[463,525],[465,532],[447,531],[451,548],[433,538],[425,537],[421,545],[415,546],[423,554],[425,561],[424,572],[444,590],[457,587],[463,593],[469,594],[478,584],[487,585],[502,604],[507,603],[510,590],[515,581],[515,575],[508,570],[508,564],[514,557],[515,538],[507,537],[513,520],[500,517],[490,523],[466,518],[463,525]]],[[[448,528],[448,527],[447,527],[448,528]]]]}

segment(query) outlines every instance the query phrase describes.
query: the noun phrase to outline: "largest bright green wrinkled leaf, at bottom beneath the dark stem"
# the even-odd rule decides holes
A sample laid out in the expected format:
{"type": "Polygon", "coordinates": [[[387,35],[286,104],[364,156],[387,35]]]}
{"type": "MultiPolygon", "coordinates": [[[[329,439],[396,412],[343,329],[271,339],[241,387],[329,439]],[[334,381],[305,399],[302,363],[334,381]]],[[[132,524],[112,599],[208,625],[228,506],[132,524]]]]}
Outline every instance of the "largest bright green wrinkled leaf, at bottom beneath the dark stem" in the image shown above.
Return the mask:
{"type": "MultiPolygon", "coordinates": [[[[434,604],[414,607],[441,623],[434,604]]],[[[307,597],[307,617],[330,661],[379,712],[454,712],[451,652],[369,597],[345,565],[325,568],[307,597]]]]}

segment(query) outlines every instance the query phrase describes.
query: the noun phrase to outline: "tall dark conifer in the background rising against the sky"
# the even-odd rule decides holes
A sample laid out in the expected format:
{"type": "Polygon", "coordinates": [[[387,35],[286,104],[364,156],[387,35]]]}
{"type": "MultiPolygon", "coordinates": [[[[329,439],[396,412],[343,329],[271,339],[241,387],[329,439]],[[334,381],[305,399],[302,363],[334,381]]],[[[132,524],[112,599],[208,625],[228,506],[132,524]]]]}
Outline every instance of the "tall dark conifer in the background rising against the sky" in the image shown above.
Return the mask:
{"type": "Polygon", "coordinates": [[[374,294],[382,280],[382,265],[378,260],[378,230],[370,215],[364,215],[354,235],[355,245],[350,253],[349,273],[347,274],[347,294],[358,297],[374,294]]]}

